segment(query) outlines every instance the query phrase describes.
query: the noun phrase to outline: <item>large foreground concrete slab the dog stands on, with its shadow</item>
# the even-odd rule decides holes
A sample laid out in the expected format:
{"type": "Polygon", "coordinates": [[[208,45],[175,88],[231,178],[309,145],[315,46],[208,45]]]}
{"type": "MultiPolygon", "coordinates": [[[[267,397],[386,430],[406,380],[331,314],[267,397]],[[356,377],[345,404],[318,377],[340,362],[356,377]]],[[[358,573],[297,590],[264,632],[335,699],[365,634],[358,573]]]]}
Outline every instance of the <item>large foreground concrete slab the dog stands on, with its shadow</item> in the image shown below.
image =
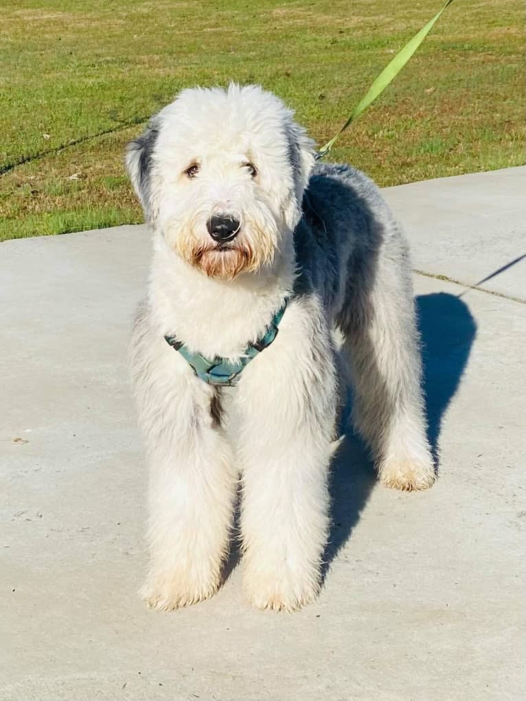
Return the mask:
{"type": "Polygon", "coordinates": [[[215,599],[163,614],[135,594],[146,473],[125,362],[149,240],[0,253],[1,700],[522,697],[525,305],[416,275],[436,486],[383,489],[348,437],[316,604],[257,611],[234,567],[215,599]]]}

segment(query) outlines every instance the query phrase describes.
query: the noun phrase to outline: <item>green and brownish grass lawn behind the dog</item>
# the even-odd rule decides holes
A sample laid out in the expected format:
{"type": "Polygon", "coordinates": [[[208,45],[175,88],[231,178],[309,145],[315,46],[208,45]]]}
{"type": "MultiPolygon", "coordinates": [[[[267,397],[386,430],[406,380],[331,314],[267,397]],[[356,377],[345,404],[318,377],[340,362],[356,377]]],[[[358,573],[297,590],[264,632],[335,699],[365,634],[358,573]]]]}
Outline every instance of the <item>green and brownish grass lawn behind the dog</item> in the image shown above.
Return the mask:
{"type": "MultiPolygon", "coordinates": [[[[443,0],[3,0],[0,240],[141,222],[123,151],[183,87],[257,82],[323,144],[443,0]]],[[[456,0],[331,157],[381,185],[525,162],[522,0],[456,0]]]]}

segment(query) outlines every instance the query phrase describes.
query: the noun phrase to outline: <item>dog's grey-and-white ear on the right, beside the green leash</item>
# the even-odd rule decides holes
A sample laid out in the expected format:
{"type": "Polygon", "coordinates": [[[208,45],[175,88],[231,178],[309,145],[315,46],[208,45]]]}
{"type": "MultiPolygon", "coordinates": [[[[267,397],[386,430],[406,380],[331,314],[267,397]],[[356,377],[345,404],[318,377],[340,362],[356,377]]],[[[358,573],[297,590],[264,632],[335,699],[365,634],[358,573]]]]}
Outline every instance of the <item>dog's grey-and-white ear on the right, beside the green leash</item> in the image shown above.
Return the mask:
{"type": "Polygon", "coordinates": [[[286,126],[286,130],[288,157],[295,184],[295,197],[292,197],[290,203],[285,207],[285,222],[290,229],[295,229],[299,219],[302,217],[303,193],[309,184],[316,151],[314,151],[313,140],[299,124],[290,121],[286,126]]]}

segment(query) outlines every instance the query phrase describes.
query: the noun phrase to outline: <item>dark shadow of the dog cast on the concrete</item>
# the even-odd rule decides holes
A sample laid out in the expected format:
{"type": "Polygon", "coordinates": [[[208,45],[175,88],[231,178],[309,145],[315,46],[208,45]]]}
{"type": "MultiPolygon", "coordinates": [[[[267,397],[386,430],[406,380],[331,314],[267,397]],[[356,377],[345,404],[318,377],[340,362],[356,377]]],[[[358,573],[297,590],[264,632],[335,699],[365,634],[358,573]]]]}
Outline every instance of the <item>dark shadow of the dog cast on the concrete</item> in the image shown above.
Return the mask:
{"type": "MultiPolygon", "coordinates": [[[[457,392],[476,336],[476,323],[466,304],[453,294],[437,292],[416,299],[422,336],[424,390],[428,438],[440,468],[440,426],[444,413],[457,392]]],[[[367,449],[358,435],[349,430],[352,398],[342,412],[342,438],[332,461],[330,477],[331,528],[323,557],[323,578],[332,561],[352,535],[377,480],[367,449]]],[[[238,526],[238,510],[235,524],[238,526]]],[[[234,529],[224,580],[239,562],[238,538],[234,529]]]]}

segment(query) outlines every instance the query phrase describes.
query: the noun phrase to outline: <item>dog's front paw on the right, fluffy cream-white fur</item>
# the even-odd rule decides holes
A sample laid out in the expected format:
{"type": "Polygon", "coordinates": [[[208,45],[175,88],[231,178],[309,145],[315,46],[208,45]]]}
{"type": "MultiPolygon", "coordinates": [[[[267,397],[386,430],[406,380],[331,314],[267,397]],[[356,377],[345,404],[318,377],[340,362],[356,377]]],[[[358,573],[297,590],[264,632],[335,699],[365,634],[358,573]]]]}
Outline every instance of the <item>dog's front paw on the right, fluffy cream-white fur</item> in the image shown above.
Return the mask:
{"type": "Polygon", "coordinates": [[[297,611],[311,604],[320,592],[318,576],[308,583],[297,580],[292,574],[262,577],[245,575],[244,589],[252,606],[269,611],[297,611]]]}

